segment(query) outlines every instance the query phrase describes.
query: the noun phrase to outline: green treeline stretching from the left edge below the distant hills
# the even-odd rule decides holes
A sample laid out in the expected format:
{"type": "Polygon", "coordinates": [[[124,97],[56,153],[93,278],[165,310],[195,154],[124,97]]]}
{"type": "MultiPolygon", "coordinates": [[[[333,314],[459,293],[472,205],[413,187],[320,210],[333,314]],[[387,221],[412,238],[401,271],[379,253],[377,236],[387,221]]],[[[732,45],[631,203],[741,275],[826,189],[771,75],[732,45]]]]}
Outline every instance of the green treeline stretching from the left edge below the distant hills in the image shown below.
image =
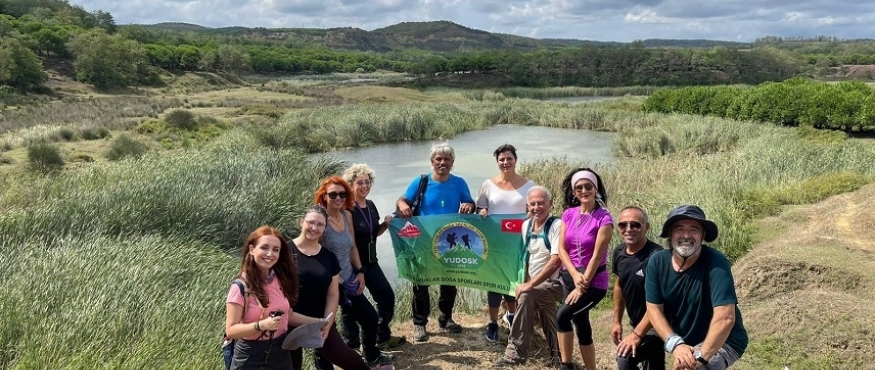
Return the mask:
{"type": "MultiPolygon", "coordinates": [[[[426,25],[405,27],[420,26],[426,25]]],[[[827,73],[836,63],[832,59],[823,62],[820,57],[806,63],[801,54],[785,47],[783,40],[760,40],[753,49],[649,48],[639,41],[616,47],[584,45],[537,51],[402,48],[378,53],[329,49],[294,37],[189,28],[119,27],[111,14],[89,12],[66,0],[0,0],[0,84],[20,90],[41,88],[48,78],[42,63],[52,58],[72,60],[74,77],[99,88],[158,85],[162,69],[234,75],[388,70],[432,80],[442,75],[497,75],[500,78],[487,81],[526,87],[757,84],[808,74],[812,63],[827,73]]],[[[465,31],[463,27],[454,29],[465,31]]],[[[483,31],[474,34],[489,35],[483,31]]],[[[869,44],[860,45],[860,56],[849,58],[869,60],[875,55],[867,49],[869,44]]],[[[0,89],[0,95],[3,91],[0,89]]]]}

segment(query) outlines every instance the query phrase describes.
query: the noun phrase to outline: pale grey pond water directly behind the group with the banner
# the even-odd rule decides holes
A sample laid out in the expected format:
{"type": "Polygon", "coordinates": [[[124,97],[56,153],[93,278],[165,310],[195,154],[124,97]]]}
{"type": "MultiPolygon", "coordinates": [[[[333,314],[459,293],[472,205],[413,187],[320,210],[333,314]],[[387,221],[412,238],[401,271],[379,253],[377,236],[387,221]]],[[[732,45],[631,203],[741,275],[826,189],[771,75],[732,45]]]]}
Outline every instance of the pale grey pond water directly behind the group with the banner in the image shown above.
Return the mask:
{"type": "MultiPolygon", "coordinates": [[[[492,152],[508,143],[517,148],[517,166],[538,159],[565,157],[588,163],[610,162],[611,143],[616,134],[586,130],[556,129],[534,126],[497,125],[487,130],[470,131],[448,142],[456,152],[452,173],[468,183],[476,197],[480,185],[498,174],[492,152]]],[[[382,144],[367,148],[341,150],[326,155],[348,163],[367,163],[376,173],[368,199],[377,205],[380,215],[395,210],[395,201],[419,175],[431,172],[429,153],[437,141],[382,144]]],[[[395,254],[388,232],[377,239],[377,257],[390,281],[398,276],[395,254]]]]}

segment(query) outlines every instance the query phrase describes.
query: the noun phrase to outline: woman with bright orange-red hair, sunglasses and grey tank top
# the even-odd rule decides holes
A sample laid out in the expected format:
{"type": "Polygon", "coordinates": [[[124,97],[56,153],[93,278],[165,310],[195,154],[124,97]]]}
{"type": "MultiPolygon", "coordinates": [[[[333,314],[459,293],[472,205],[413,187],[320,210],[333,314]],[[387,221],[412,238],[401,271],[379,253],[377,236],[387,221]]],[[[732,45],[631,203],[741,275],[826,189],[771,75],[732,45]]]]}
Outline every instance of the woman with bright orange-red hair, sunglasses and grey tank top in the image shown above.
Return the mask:
{"type": "MultiPolygon", "coordinates": [[[[319,185],[313,202],[328,211],[328,226],[322,234],[323,247],[337,256],[340,264],[341,315],[351,317],[361,327],[362,355],[368,366],[389,365],[392,357],[377,348],[377,311],[367,297],[365,275],[358,248],[355,245],[352,213],[352,187],[340,176],[331,176],[319,185]]],[[[348,341],[353,338],[346,338],[348,341]]],[[[358,338],[355,338],[358,339],[358,338]]],[[[317,356],[317,367],[327,365],[317,356]]]]}

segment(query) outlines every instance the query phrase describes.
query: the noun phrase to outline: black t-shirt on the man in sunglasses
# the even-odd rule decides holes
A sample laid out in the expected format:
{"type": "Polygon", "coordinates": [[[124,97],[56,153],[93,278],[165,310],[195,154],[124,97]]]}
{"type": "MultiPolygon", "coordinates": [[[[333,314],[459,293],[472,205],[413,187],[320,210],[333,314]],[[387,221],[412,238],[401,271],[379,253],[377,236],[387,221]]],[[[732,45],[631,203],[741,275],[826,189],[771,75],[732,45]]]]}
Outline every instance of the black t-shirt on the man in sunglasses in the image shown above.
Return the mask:
{"type": "Polygon", "coordinates": [[[650,255],[661,251],[662,247],[650,240],[644,244],[638,253],[626,253],[626,244],[620,243],[614,249],[614,264],[611,272],[620,280],[623,300],[626,302],[626,313],[632,327],[638,326],[644,314],[647,313],[647,301],[644,295],[644,272],[647,271],[647,261],[650,255]]]}

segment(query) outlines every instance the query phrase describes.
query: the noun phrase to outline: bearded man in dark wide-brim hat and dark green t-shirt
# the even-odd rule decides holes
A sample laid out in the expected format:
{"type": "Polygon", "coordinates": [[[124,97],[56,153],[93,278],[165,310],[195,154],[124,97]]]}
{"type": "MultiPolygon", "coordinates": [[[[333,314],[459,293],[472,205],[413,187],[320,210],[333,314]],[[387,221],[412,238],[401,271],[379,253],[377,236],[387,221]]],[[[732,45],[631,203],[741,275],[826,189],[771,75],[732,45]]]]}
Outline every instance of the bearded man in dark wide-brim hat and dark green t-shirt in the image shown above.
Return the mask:
{"type": "Polygon", "coordinates": [[[747,349],[732,269],[710,246],[717,224],[695,205],[668,213],[660,237],[668,250],[650,257],[645,276],[647,317],[674,369],[725,369],[747,349]]]}

